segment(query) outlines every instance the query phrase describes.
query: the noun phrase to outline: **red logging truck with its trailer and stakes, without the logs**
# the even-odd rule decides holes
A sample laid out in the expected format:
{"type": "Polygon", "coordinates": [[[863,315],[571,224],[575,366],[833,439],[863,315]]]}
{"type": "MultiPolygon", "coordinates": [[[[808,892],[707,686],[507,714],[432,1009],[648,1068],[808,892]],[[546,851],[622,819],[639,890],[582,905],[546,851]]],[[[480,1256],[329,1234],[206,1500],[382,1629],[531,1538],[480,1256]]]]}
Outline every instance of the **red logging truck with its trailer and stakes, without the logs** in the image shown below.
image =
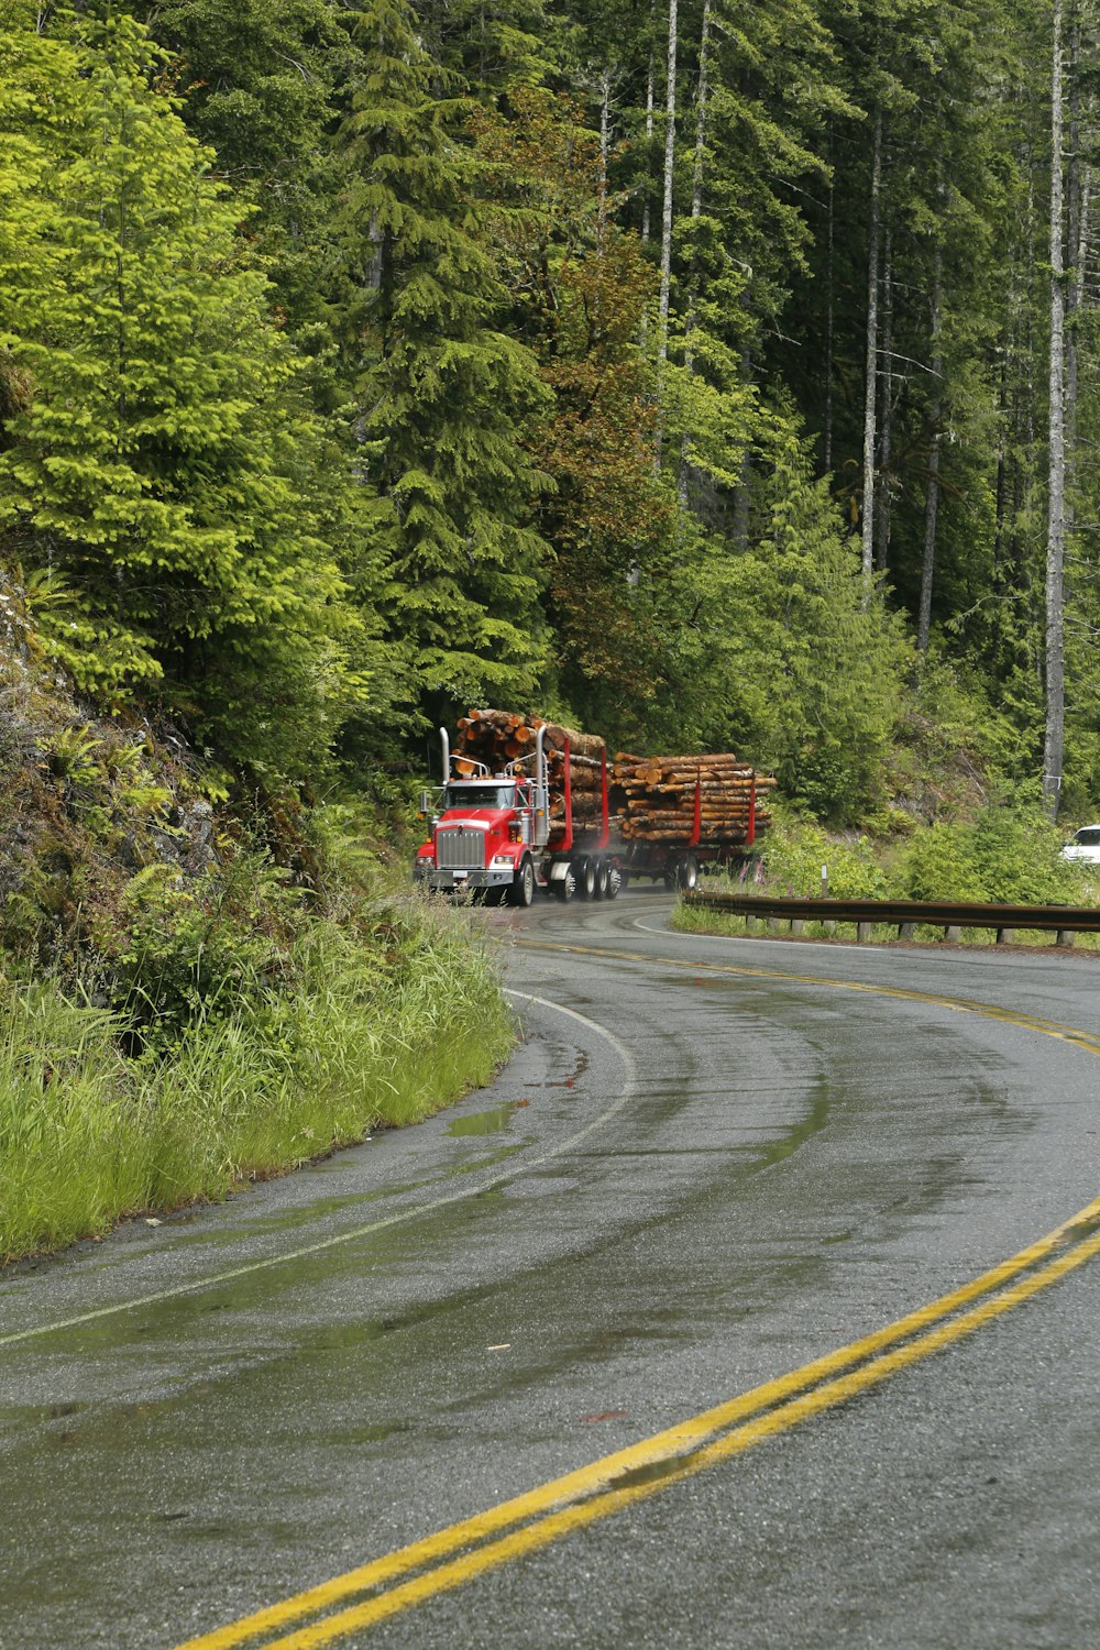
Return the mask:
{"type": "Polygon", "coordinates": [[[694,888],[706,863],[745,856],[757,832],[755,776],[750,782],[744,842],[707,842],[699,779],[688,830],[627,842],[612,828],[607,751],[599,759],[599,810],[579,820],[574,810],[569,739],[559,782],[551,792],[546,728],[538,728],[534,751],[503,762],[493,772],[463,757],[458,772],[447,729],[440,728],[444,784],[421,795],[421,813],[432,835],[416,855],[412,874],[425,888],[455,893],[468,888],[482,899],[529,906],[536,889],[566,901],[615,899],[630,876],[648,876],[671,889],[694,888]]]}

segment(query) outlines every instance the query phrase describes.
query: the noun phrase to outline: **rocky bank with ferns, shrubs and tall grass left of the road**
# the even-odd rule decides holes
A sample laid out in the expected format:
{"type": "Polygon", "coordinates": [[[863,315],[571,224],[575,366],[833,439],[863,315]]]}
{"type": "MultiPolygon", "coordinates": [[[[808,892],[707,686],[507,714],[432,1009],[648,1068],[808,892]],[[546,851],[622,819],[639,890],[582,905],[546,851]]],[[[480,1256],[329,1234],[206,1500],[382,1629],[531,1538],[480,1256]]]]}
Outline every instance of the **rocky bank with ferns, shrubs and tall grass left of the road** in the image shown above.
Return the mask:
{"type": "Polygon", "coordinates": [[[399,800],[386,858],[378,805],[223,794],[33,648],[0,695],[0,1261],[416,1122],[506,1059],[496,965],[409,891],[399,800]]]}

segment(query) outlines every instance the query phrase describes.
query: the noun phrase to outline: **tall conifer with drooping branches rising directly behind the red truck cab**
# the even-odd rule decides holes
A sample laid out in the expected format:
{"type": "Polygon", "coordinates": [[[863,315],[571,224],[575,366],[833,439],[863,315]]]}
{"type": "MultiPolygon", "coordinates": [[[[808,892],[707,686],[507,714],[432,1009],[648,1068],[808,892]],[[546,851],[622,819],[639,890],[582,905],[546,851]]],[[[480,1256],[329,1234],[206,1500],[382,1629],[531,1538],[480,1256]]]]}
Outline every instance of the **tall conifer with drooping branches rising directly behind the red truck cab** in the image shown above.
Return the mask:
{"type": "Polygon", "coordinates": [[[348,355],[361,469],[389,564],[388,617],[434,710],[485,693],[519,703],[541,658],[546,480],[523,446],[543,404],[529,351],[477,236],[470,106],[421,46],[404,0],[356,18],[364,74],[343,134],[348,355]]]}

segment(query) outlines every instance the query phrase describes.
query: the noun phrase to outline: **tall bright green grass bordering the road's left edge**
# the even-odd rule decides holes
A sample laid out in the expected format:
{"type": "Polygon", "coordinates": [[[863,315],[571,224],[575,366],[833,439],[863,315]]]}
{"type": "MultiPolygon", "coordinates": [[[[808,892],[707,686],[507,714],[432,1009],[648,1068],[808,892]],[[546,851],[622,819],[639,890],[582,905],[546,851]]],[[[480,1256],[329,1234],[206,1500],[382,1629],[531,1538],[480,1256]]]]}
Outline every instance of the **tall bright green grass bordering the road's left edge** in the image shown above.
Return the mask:
{"type": "Polygon", "coordinates": [[[491,957],[450,912],[396,924],[383,952],[318,919],[292,992],[244,978],[155,1054],[56,982],[3,988],[0,1261],[224,1196],[485,1082],[513,1040],[491,957]]]}

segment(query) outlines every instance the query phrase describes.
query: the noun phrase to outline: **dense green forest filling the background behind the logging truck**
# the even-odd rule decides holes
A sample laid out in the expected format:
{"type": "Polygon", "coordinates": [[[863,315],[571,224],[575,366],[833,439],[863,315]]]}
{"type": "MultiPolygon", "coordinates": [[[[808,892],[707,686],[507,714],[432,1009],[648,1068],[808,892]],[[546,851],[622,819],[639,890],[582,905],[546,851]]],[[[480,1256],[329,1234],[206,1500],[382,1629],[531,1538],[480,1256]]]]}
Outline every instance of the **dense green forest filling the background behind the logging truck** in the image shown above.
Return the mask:
{"type": "Polygon", "coordinates": [[[0,0],[0,602],[269,787],[483,701],[1079,812],[1098,23],[0,0]]]}

